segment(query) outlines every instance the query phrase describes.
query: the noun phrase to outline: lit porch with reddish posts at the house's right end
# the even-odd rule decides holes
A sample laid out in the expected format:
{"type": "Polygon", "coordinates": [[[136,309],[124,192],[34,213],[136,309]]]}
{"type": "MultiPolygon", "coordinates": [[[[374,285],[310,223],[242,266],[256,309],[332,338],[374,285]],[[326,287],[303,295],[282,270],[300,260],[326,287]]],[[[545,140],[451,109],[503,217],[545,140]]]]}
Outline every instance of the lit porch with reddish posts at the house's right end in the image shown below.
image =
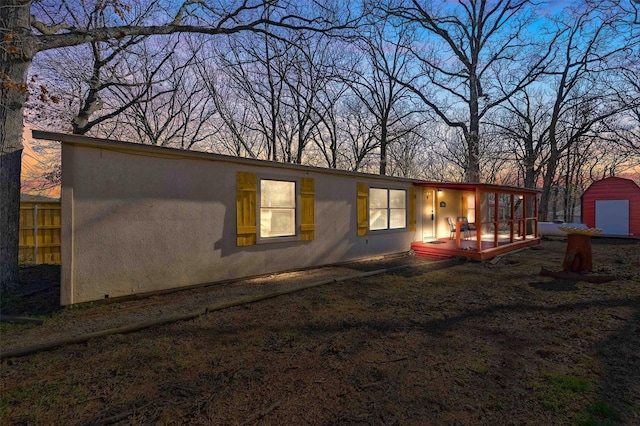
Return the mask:
{"type": "Polygon", "coordinates": [[[539,244],[538,191],[474,183],[422,183],[417,256],[487,260],[539,244]],[[455,225],[454,225],[455,223],[455,225]],[[471,231],[464,231],[466,224],[471,231]]]}

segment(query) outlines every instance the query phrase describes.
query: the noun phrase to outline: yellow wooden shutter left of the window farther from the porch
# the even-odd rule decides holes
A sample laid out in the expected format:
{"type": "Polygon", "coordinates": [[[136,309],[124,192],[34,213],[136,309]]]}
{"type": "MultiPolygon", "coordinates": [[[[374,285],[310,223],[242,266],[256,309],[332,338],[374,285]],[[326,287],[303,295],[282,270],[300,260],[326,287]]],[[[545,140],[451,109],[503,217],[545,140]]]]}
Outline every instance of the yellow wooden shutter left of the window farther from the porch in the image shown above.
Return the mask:
{"type": "Polygon", "coordinates": [[[256,174],[236,172],[236,243],[238,247],[256,243],[257,194],[256,174]]]}

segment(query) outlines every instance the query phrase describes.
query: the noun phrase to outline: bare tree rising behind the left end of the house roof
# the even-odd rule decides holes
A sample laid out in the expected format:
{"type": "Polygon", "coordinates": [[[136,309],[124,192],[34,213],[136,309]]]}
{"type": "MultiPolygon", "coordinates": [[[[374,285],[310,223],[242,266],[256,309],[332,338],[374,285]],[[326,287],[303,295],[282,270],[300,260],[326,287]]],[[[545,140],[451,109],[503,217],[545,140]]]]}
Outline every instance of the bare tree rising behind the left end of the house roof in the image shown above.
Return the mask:
{"type": "MultiPolygon", "coordinates": [[[[131,25],[142,23],[151,12],[140,4],[136,7],[129,10],[131,19],[127,22],[131,25]]],[[[61,10],[74,29],[84,32],[117,25],[124,14],[117,5],[109,8],[101,2],[62,2],[61,10]]],[[[73,133],[94,130],[94,134],[101,134],[99,128],[104,123],[140,102],[156,83],[155,74],[176,47],[171,40],[159,41],[149,43],[148,36],[130,36],[46,50],[36,56],[32,74],[40,75],[41,80],[46,76],[46,90],[61,100],[64,109],[57,112],[61,119],[70,121],[73,133]],[[123,91],[135,95],[123,97],[123,91]]],[[[50,116],[48,107],[41,109],[50,116]]]]}

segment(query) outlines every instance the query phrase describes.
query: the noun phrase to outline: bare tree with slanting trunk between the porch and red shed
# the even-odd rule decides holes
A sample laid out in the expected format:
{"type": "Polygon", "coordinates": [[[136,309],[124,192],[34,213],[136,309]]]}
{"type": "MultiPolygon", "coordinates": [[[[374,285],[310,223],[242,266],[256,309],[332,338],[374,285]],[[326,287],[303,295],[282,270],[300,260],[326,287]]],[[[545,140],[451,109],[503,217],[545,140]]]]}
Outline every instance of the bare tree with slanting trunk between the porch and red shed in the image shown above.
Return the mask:
{"type": "MultiPolygon", "coordinates": [[[[594,127],[633,105],[616,77],[636,54],[638,35],[619,2],[585,2],[556,20],[560,53],[547,72],[553,90],[546,138],[548,158],[543,174],[539,216],[549,214],[551,190],[563,153],[594,127]]],[[[637,102],[637,100],[635,101],[637,102]]]]}

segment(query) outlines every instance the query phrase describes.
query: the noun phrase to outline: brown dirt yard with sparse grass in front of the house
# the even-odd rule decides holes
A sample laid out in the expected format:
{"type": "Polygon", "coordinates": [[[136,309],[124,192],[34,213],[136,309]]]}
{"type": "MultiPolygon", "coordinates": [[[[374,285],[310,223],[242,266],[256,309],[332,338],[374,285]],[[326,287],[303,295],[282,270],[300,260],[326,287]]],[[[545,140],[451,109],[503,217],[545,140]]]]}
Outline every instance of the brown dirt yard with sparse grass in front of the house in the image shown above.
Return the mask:
{"type": "MultiPolygon", "coordinates": [[[[605,284],[540,276],[565,247],[439,268],[404,258],[392,273],[3,357],[0,424],[640,425],[640,241],[594,239],[594,273],[616,278],[605,284]]],[[[182,297],[60,310],[46,289],[57,269],[23,273],[30,295],[3,294],[2,313],[45,323],[3,323],[3,350],[182,297]]]]}

